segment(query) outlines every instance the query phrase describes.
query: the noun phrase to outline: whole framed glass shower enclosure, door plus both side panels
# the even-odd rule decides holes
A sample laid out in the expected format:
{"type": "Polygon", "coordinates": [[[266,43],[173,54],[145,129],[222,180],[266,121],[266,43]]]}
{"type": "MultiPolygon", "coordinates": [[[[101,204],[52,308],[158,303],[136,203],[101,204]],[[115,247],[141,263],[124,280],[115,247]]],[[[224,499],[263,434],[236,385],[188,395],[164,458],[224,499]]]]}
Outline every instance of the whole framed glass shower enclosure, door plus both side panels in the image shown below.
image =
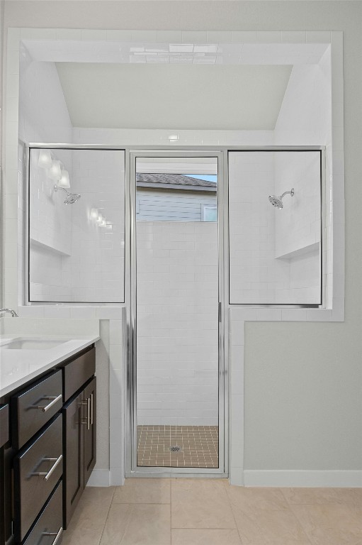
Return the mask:
{"type": "Polygon", "coordinates": [[[229,311],[323,306],[324,150],[30,144],[28,181],[26,304],[125,309],[126,475],[227,475],[229,311]]]}

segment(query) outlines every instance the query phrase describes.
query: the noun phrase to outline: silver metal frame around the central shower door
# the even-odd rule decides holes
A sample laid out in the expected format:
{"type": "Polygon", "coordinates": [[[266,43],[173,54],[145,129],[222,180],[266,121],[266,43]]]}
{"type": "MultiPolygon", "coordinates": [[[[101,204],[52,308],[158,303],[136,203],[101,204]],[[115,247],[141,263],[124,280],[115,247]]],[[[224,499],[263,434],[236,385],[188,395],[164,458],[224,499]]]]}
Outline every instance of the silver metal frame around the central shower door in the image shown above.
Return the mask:
{"type": "MultiPolygon", "coordinates": [[[[129,233],[130,233],[130,278],[126,280],[126,286],[130,286],[130,290],[126,289],[127,294],[130,294],[130,299],[126,307],[130,309],[130,319],[128,320],[130,343],[127,346],[127,358],[130,362],[129,375],[127,378],[127,407],[129,410],[125,447],[126,447],[126,477],[225,477],[228,475],[228,373],[227,373],[227,335],[225,331],[227,322],[227,312],[225,309],[225,224],[224,211],[227,203],[227,195],[225,189],[227,184],[223,180],[227,180],[227,150],[220,148],[198,148],[198,147],[183,147],[177,148],[172,146],[171,149],[154,148],[154,146],[130,148],[129,155],[126,153],[129,162],[126,163],[126,178],[130,179],[130,194],[128,202],[130,203],[130,218],[129,218],[129,233]],[[218,413],[219,413],[219,467],[218,468],[169,468],[169,467],[141,467],[137,466],[137,263],[136,263],[136,160],[137,158],[216,158],[217,159],[217,239],[218,239],[218,413]],[[129,283],[128,283],[129,282],[129,283]]],[[[126,230],[128,226],[126,226],[126,230]]]]}

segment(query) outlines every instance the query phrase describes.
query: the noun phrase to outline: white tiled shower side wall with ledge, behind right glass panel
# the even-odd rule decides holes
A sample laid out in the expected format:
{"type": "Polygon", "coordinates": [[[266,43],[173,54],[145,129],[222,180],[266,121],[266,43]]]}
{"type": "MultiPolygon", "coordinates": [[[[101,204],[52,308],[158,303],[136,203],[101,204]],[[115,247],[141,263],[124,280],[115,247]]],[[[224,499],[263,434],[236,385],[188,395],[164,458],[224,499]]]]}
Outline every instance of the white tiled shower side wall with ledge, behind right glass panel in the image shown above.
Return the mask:
{"type": "Polygon", "coordinates": [[[278,299],[321,304],[321,180],[320,153],[275,153],[275,192],[293,186],[294,197],[285,197],[285,207],[276,213],[276,258],[290,263],[288,292],[278,299]],[[288,200],[290,201],[288,202],[288,200]]]}

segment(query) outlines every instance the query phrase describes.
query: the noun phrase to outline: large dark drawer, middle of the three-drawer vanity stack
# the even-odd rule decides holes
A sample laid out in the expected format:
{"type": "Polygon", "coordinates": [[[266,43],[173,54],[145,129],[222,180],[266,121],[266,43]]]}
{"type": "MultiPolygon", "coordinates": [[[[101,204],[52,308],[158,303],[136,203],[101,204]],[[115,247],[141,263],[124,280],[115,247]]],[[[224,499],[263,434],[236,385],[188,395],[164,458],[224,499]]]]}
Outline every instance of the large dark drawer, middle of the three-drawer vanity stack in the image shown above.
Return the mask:
{"type": "Polygon", "coordinates": [[[62,472],[62,414],[59,414],[13,461],[17,542],[24,539],[62,472]]]}

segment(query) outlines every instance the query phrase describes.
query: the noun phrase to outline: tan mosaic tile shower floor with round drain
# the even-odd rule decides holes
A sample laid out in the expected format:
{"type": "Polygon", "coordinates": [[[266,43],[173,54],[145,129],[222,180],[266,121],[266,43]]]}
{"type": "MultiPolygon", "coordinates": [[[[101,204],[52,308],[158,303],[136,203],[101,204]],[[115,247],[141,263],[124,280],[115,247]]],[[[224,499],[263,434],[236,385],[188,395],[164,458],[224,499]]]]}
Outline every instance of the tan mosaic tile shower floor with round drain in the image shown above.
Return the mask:
{"type": "Polygon", "coordinates": [[[137,426],[137,466],[218,468],[218,448],[218,426],[137,426]]]}

